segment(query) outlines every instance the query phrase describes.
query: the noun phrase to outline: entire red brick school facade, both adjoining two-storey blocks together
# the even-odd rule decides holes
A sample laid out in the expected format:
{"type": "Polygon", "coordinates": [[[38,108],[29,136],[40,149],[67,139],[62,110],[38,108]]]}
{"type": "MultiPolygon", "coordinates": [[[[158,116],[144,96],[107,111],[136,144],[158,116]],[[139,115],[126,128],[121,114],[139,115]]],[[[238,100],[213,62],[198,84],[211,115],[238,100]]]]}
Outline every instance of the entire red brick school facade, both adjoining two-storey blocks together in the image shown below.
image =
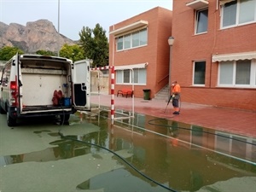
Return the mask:
{"type": "Polygon", "coordinates": [[[110,26],[115,95],[133,84],[154,98],[177,80],[182,102],[256,112],[255,13],[256,0],[173,0],[110,26]]]}

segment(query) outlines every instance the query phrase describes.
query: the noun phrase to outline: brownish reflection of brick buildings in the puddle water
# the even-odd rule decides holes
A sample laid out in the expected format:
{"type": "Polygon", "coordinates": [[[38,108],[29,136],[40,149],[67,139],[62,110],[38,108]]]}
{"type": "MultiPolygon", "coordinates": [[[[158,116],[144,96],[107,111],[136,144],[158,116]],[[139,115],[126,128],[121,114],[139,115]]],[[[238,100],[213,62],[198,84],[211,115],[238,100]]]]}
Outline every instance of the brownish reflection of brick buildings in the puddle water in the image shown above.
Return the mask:
{"type": "Polygon", "coordinates": [[[235,177],[256,177],[255,138],[143,114],[119,119],[108,129],[109,148],[129,149],[132,165],[172,189],[196,191],[235,177]]]}

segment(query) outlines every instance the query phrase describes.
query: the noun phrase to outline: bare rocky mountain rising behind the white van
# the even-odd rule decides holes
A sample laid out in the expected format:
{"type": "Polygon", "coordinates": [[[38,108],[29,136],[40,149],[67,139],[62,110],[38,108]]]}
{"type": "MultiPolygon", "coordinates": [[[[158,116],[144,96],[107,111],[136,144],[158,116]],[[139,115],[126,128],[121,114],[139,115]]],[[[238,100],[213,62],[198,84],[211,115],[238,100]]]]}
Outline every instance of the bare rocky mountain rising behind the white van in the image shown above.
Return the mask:
{"type": "Polygon", "coordinates": [[[40,49],[58,52],[63,44],[75,43],[59,34],[49,20],[27,22],[26,26],[17,23],[6,25],[0,22],[0,48],[15,46],[26,53],[35,53],[40,49]]]}

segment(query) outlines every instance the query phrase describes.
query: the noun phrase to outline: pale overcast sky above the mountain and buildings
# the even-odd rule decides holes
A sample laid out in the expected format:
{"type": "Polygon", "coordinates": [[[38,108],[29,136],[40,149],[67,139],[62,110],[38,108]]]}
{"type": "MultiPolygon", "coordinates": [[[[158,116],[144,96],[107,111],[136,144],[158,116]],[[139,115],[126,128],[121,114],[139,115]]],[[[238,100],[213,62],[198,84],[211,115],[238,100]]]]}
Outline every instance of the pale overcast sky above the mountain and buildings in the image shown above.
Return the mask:
{"type": "Polygon", "coordinates": [[[172,10],[172,0],[0,0],[0,21],[26,26],[45,19],[57,31],[59,23],[60,33],[67,38],[78,40],[83,26],[94,28],[99,23],[108,37],[109,26],[157,6],[172,10]]]}

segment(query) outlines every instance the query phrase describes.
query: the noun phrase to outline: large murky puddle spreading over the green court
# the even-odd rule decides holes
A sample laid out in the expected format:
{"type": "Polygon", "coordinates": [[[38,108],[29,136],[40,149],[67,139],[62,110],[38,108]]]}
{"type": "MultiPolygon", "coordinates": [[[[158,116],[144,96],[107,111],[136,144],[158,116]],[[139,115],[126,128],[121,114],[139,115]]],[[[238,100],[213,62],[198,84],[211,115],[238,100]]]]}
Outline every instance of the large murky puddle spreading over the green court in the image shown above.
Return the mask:
{"type": "MultiPolygon", "coordinates": [[[[119,113],[131,115],[125,111],[119,113]]],[[[44,130],[33,133],[54,138],[49,143],[52,147],[3,156],[4,166],[55,162],[52,167],[58,167],[58,163],[64,160],[76,162],[75,158],[90,155],[79,161],[83,164],[72,164],[79,170],[79,167],[94,161],[96,167],[93,172],[85,170],[84,174],[81,173],[84,177],[72,176],[73,183],[76,183],[73,190],[255,192],[256,138],[140,113],[135,113],[134,118],[118,119],[113,124],[108,117],[109,113],[102,111],[96,115],[83,114],[82,122],[78,118],[71,119],[69,126],[65,126],[68,132],[63,133],[63,137],[45,125],[44,130]],[[84,130],[88,125],[96,125],[99,129],[74,134],[73,129],[78,125],[84,130]],[[111,154],[108,162],[105,154],[111,154]],[[110,162],[116,162],[119,167],[108,167],[110,162]],[[108,171],[102,172],[104,165],[108,171]]],[[[124,115],[117,114],[117,117],[124,115]]],[[[76,172],[69,174],[75,176],[76,172]]]]}

